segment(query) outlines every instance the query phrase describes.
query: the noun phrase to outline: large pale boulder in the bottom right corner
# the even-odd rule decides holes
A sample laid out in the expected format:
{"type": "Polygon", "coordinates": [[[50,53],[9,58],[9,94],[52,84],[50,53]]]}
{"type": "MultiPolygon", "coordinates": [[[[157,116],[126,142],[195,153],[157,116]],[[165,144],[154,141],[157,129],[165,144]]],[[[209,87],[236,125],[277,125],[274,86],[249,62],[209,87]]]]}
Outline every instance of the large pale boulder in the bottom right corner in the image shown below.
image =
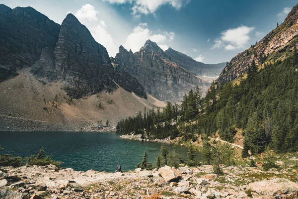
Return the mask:
{"type": "Polygon", "coordinates": [[[250,183],[249,188],[264,198],[283,198],[286,193],[288,198],[298,197],[298,184],[283,178],[250,183]]]}

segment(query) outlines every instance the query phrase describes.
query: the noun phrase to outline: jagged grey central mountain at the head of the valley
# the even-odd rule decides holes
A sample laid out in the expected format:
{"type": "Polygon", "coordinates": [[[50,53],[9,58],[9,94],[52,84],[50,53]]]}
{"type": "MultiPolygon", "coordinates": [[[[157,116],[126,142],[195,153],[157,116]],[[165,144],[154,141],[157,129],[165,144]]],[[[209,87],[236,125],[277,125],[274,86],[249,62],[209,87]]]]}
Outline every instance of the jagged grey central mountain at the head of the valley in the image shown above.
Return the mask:
{"type": "Polygon", "coordinates": [[[171,58],[150,40],[136,53],[120,46],[119,53],[112,58],[112,62],[133,75],[147,93],[162,101],[179,102],[195,86],[200,86],[203,91],[209,86],[194,73],[171,61],[171,58]]]}

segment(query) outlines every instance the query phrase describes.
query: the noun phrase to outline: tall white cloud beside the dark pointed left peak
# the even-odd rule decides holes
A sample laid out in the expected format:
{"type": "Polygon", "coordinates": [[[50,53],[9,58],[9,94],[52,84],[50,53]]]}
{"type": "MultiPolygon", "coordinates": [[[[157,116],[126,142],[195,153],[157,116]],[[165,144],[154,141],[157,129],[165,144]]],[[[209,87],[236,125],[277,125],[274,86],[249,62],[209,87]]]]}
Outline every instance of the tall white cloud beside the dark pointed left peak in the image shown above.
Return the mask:
{"type": "Polygon", "coordinates": [[[114,56],[118,51],[118,47],[112,36],[107,32],[105,21],[97,17],[98,13],[99,11],[95,10],[93,5],[85,4],[76,10],[74,15],[89,29],[94,39],[107,49],[109,55],[114,56]]]}

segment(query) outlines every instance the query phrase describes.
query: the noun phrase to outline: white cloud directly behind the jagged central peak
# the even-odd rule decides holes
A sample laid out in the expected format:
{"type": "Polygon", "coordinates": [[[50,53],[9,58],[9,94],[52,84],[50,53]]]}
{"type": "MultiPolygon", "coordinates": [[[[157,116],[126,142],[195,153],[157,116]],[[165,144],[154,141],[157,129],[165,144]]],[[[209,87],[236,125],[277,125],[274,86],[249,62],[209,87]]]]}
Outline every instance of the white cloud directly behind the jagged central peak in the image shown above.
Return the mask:
{"type": "Polygon", "coordinates": [[[126,49],[131,49],[133,52],[139,51],[145,42],[150,39],[156,42],[162,50],[167,50],[168,46],[166,42],[173,41],[174,32],[163,32],[154,34],[153,31],[149,30],[148,24],[144,26],[144,23],[140,23],[134,28],[133,32],[128,35],[125,44],[123,45],[126,49]]]}

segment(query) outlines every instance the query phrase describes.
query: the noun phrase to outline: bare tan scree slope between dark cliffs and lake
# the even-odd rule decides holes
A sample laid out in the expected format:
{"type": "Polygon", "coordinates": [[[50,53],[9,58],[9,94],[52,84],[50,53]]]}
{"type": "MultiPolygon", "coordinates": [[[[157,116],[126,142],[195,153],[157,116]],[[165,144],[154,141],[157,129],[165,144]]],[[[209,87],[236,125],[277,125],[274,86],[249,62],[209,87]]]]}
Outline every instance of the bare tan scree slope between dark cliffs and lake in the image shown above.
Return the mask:
{"type": "Polygon", "coordinates": [[[122,88],[71,99],[63,83],[41,83],[29,68],[19,73],[0,83],[0,131],[95,130],[99,120],[114,126],[144,107],[164,106],[149,95],[146,100],[122,88]]]}

